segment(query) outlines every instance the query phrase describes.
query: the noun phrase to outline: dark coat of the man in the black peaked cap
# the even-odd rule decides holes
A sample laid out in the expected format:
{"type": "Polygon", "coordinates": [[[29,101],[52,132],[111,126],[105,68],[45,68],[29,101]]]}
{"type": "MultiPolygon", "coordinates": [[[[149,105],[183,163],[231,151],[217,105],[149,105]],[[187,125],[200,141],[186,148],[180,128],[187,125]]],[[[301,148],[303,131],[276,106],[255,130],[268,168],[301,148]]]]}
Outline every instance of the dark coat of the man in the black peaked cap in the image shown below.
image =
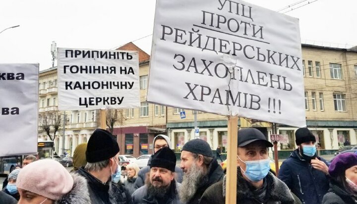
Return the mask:
{"type": "MultiPolygon", "coordinates": [[[[264,204],[301,204],[294,197],[289,188],[276,178],[271,172],[265,177],[266,193],[264,204]]],[[[248,182],[243,178],[240,168],[237,169],[237,203],[238,204],[262,204],[252,197],[252,190],[248,182]]],[[[226,203],[226,176],[223,181],[213,184],[203,194],[200,204],[225,204],[226,203]]]]}

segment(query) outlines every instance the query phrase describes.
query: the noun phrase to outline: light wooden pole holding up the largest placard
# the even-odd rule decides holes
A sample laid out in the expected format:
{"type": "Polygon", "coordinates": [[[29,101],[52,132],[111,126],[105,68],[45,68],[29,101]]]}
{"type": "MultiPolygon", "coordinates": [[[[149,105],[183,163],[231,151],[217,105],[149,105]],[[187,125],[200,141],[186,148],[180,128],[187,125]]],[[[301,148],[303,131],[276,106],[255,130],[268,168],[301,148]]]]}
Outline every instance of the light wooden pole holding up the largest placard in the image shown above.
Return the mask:
{"type": "Polygon", "coordinates": [[[226,204],[237,203],[238,116],[228,117],[226,204]]]}

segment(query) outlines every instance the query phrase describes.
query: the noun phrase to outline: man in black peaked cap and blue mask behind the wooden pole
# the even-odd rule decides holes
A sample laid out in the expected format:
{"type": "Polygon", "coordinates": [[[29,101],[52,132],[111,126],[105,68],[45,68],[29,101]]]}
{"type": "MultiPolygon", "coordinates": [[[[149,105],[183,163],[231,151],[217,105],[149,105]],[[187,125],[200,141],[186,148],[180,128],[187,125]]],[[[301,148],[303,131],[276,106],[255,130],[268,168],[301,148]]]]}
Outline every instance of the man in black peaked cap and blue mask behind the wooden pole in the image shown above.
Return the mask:
{"type": "MultiPolygon", "coordinates": [[[[238,131],[237,203],[238,204],[299,204],[289,188],[270,170],[268,147],[272,147],[257,129],[238,131]]],[[[226,179],[213,184],[203,194],[200,204],[225,204],[226,179]]]]}

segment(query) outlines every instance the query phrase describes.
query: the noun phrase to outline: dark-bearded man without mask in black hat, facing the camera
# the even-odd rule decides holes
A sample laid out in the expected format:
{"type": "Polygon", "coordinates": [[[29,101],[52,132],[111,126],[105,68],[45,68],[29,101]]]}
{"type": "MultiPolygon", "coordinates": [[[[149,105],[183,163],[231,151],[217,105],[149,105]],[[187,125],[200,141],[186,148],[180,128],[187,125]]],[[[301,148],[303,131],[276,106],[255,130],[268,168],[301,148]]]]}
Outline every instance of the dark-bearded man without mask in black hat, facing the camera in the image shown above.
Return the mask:
{"type": "Polygon", "coordinates": [[[145,185],[132,194],[134,204],[181,204],[175,181],[176,156],[169,147],[156,151],[150,162],[145,185]]]}

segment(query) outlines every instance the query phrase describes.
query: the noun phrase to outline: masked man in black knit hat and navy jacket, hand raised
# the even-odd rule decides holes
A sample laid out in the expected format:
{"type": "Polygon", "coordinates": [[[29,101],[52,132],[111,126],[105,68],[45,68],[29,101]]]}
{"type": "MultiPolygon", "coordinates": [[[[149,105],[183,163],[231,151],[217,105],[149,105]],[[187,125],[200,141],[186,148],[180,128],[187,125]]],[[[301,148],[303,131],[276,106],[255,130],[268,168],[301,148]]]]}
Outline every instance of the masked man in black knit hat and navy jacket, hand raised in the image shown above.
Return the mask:
{"type": "Polygon", "coordinates": [[[279,171],[281,179],[304,204],[321,204],[329,189],[328,163],[316,155],[316,138],[307,128],[295,132],[297,149],[279,171]]]}

